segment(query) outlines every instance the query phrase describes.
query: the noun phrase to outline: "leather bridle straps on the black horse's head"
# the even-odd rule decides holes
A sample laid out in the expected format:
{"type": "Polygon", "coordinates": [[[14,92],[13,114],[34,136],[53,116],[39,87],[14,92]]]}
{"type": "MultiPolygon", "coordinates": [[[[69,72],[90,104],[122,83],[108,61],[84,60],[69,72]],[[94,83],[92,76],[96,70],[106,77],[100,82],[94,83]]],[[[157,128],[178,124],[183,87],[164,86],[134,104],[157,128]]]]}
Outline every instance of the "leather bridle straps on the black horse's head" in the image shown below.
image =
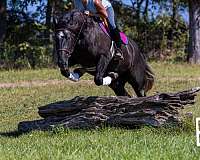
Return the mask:
{"type": "MultiPolygon", "coordinates": [[[[83,16],[83,15],[82,15],[82,16],[83,16]]],[[[58,51],[63,51],[63,52],[65,52],[65,54],[66,54],[68,57],[70,57],[70,56],[71,56],[71,53],[73,53],[73,51],[74,51],[74,49],[75,49],[75,46],[76,46],[76,44],[78,43],[78,40],[79,40],[80,35],[81,35],[81,33],[82,33],[83,27],[84,27],[84,25],[85,25],[85,23],[86,23],[86,19],[85,19],[84,16],[83,16],[83,19],[84,19],[84,21],[83,21],[83,23],[82,23],[82,25],[81,25],[81,28],[80,28],[80,30],[79,30],[77,36],[76,36],[75,33],[73,33],[73,32],[70,31],[70,30],[67,30],[67,29],[65,29],[65,28],[56,29],[56,31],[63,31],[64,33],[65,33],[65,32],[70,32],[70,34],[73,35],[73,37],[77,37],[77,38],[75,39],[75,41],[74,41],[73,46],[72,46],[72,50],[69,50],[68,48],[61,48],[61,49],[58,49],[58,51]]]]}

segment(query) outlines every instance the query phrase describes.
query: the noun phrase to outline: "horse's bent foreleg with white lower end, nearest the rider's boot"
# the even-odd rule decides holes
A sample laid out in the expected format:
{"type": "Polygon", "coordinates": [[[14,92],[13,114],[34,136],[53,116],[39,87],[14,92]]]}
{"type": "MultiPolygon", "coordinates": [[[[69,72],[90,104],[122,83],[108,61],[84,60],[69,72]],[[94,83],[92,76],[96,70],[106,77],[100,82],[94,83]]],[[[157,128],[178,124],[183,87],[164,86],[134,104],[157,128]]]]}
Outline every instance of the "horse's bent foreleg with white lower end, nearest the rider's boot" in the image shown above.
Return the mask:
{"type": "Polygon", "coordinates": [[[105,72],[107,70],[108,64],[110,62],[110,58],[106,57],[105,55],[101,55],[99,62],[97,64],[96,68],[96,76],[94,77],[94,82],[97,86],[100,85],[109,85],[111,83],[112,78],[111,77],[105,77],[105,72]]]}

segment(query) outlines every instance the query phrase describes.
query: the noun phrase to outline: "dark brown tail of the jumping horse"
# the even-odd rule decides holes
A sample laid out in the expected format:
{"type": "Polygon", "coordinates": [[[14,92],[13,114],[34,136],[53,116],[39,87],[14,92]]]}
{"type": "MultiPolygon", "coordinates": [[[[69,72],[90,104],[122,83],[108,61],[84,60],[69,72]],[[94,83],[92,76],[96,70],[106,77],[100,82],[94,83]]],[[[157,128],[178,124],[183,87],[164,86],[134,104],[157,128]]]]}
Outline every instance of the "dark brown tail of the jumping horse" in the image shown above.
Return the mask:
{"type": "Polygon", "coordinates": [[[145,84],[144,84],[144,91],[147,92],[149,91],[154,84],[154,80],[155,80],[155,74],[153,73],[151,67],[146,64],[145,67],[145,84]]]}

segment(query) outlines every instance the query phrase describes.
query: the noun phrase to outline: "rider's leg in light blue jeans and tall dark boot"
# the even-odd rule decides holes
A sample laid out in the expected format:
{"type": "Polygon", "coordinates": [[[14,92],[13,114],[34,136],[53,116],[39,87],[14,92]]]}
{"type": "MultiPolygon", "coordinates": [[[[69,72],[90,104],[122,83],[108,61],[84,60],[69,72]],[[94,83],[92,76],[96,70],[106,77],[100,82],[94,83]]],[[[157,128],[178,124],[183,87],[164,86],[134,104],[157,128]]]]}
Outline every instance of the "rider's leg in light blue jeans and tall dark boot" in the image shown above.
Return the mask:
{"type": "Polygon", "coordinates": [[[122,41],[121,41],[121,37],[120,37],[120,31],[116,27],[116,24],[115,24],[114,10],[113,10],[112,7],[109,7],[109,8],[107,8],[106,11],[107,11],[107,14],[108,14],[108,27],[111,31],[112,39],[115,41],[115,44],[117,46],[117,49],[116,49],[116,52],[115,52],[116,58],[123,59],[123,53],[121,51],[122,41]]]}

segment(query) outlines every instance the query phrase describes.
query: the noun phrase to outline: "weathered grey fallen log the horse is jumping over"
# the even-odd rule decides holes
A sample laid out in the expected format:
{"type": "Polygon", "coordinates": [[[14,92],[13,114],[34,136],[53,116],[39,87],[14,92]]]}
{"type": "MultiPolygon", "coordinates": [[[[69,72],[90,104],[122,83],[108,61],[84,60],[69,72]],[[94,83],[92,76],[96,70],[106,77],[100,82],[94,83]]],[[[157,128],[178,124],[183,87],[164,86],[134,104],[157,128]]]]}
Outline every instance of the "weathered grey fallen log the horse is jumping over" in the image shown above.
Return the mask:
{"type": "Polygon", "coordinates": [[[195,103],[200,87],[149,97],[75,97],[39,107],[43,118],[20,122],[19,131],[47,130],[53,127],[89,129],[102,125],[135,128],[161,127],[181,122],[180,110],[195,103]]]}

